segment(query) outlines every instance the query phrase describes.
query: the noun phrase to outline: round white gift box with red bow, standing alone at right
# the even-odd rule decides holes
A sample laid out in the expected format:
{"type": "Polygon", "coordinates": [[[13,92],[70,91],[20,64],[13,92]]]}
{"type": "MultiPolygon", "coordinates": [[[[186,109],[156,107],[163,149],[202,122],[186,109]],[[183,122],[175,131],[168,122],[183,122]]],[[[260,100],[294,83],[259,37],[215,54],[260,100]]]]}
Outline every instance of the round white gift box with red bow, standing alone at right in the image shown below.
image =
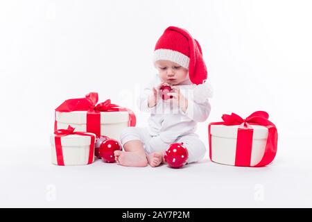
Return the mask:
{"type": "Polygon", "coordinates": [[[223,114],[222,122],[209,123],[209,157],[213,162],[238,167],[263,167],[277,153],[277,128],[268,113],[257,111],[246,119],[223,114]]]}

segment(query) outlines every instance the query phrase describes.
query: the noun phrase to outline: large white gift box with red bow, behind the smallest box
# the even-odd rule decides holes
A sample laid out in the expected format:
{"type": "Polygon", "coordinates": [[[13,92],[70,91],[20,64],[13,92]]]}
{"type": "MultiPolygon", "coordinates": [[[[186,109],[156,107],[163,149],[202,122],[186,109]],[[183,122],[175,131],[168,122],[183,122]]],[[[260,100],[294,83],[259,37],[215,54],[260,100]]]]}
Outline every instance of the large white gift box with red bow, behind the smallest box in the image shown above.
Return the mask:
{"type": "Polygon", "coordinates": [[[135,126],[134,112],[112,104],[110,99],[98,103],[98,93],[90,92],[85,98],[68,99],[55,109],[54,130],[74,126],[77,130],[119,139],[121,130],[135,126]]]}

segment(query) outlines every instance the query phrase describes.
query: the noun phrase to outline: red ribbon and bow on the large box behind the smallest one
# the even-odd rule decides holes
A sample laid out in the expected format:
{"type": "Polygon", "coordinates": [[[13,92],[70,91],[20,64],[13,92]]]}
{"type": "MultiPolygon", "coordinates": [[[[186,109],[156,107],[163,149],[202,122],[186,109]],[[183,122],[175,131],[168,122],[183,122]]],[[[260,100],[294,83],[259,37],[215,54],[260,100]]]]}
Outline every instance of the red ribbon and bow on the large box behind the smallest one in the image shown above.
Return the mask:
{"type": "MultiPolygon", "coordinates": [[[[119,105],[110,103],[107,99],[103,103],[98,103],[98,93],[90,92],[85,98],[68,99],[64,101],[55,111],[72,112],[72,111],[87,111],[87,132],[94,133],[97,137],[101,136],[101,112],[119,112],[126,111],[129,113],[128,126],[135,126],[135,113],[128,108],[120,107],[119,105]]],[[[56,119],[54,130],[57,130],[56,119]]]]}

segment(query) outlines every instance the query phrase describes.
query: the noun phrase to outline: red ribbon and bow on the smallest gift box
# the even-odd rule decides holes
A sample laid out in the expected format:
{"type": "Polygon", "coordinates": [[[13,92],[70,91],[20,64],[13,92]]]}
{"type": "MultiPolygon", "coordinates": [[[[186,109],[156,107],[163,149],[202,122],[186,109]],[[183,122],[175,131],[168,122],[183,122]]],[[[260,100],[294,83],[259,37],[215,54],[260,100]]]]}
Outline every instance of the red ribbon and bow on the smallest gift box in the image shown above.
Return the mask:
{"type": "Polygon", "coordinates": [[[75,128],[68,126],[67,129],[55,130],[54,132],[56,160],[58,161],[58,165],[64,166],[64,157],[63,157],[63,151],[62,151],[61,137],[64,137],[67,135],[81,135],[81,136],[91,137],[89,159],[88,159],[87,164],[92,164],[93,157],[94,157],[94,143],[95,143],[94,135],[90,135],[89,133],[84,133],[84,132],[73,132],[73,130],[75,130],[75,128]]]}

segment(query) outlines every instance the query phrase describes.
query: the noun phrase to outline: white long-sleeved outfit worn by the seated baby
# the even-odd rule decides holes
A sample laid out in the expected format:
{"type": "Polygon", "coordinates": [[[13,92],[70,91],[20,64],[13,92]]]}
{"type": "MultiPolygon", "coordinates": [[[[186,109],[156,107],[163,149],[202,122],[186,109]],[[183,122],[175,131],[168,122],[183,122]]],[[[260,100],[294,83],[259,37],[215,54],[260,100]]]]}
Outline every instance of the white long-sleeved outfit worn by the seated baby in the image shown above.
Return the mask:
{"type": "Polygon", "coordinates": [[[146,153],[165,151],[170,144],[183,142],[189,151],[187,162],[196,162],[205,156],[206,148],[198,135],[197,123],[206,121],[210,113],[210,90],[207,83],[195,85],[189,78],[176,85],[188,99],[188,108],[184,112],[169,100],[157,99],[157,105],[148,108],[148,96],[153,93],[153,87],[161,83],[158,74],[144,88],[137,101],[139,110],[150,112],[146,128],[128,127],[121,133],[121,144],[139,139],[146,153]]]}

